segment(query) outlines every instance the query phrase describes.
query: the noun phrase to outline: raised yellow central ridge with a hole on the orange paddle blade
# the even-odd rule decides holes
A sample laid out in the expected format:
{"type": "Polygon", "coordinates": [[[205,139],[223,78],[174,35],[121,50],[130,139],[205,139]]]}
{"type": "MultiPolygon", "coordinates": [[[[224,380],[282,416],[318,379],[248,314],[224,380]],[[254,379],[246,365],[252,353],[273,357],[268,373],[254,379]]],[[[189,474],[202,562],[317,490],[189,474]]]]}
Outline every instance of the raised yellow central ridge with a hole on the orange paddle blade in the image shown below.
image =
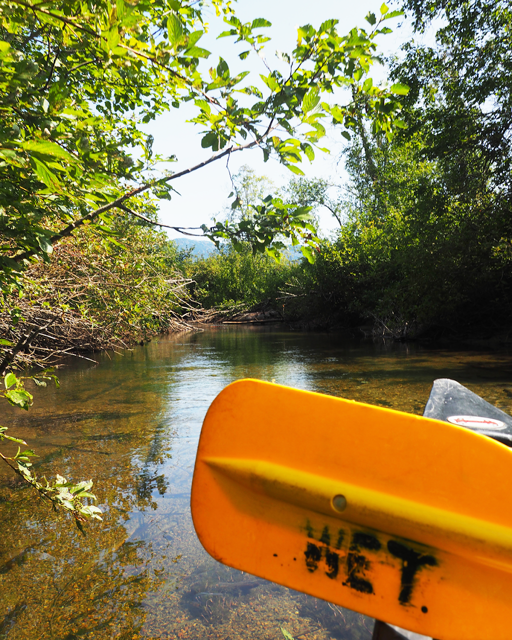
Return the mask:
{"type": "Polygon", "coordinates": [[[260,495],[401,538],[414,538],[512,572],[509,527],[261,460],[205,458],[204,461],[260,495]]]}

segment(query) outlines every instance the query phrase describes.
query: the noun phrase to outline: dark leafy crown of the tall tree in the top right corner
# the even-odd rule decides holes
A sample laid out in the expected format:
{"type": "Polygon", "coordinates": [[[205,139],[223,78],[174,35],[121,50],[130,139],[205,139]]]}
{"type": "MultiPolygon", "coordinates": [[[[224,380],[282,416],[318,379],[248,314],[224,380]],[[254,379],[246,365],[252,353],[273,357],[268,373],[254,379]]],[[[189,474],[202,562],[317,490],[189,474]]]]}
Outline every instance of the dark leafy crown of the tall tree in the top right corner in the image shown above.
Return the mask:
{"type": "Polygon", "coordinates": [[[429,156],[447,188],[479,202],[512,232],[512,9],[499,0],[406,0],[417,31],[442,26],[436,46],[410,42],[392,77],[407,83],[412,129],[427,134],[429,156]]]}

